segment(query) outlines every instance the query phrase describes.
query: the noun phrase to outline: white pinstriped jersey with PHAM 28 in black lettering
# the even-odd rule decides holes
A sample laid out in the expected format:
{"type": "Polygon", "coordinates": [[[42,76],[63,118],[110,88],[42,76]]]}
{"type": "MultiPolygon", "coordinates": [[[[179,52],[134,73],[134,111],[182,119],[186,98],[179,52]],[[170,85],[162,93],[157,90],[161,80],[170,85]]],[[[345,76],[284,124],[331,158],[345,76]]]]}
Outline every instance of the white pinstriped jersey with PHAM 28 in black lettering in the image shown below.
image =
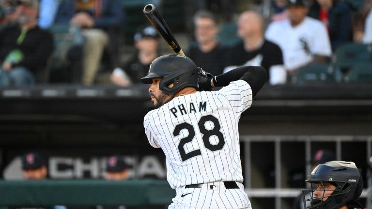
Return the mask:
{"type": "Polygon", "coordinates": [[[175,97],[147,113],[145,133],[151,146],[165,153],[172,188],[243,182],[238,121],[251,104],[249,84],[238,80],[218,91],[175,97]]]}

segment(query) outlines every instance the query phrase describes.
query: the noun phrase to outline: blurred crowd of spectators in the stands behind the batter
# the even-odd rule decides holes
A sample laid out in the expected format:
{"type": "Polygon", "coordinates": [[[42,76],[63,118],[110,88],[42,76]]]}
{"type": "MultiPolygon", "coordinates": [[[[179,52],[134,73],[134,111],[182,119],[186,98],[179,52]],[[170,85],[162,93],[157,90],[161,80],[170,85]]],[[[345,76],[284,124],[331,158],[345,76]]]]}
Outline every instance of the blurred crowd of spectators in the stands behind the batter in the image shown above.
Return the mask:
{"type": "MultiPolygon", "coordinates": [[[[260,65],[268,83],[280,85],[294,82],[306,66],[338,66],[346,74],[353,66],[339,65],[339,54],[352,52],[343,46],[372,43],[372,0],[271,0],[269,15],[235,3],[229,14],[217,14],[213,5],[185,7],[192,15],[185,21],[186,56],[213,75],[260,65]],[[188,25],[193,34],[187,33],[188,25]]],[[[125,87],[138,83],[156,57],[171,53],[160,49],[150,25],[137,26],[133,37],[125,37],[133,39],[128,46],[133,50],[120,53],[128,26],[121,0],[1,0],[0,6],[0,87],[125,87]],[[108,76],[100,78],[101,71],[108,76]]],[[[364,55],[365,68],[372,66],[370,55],[364,55]]]]}

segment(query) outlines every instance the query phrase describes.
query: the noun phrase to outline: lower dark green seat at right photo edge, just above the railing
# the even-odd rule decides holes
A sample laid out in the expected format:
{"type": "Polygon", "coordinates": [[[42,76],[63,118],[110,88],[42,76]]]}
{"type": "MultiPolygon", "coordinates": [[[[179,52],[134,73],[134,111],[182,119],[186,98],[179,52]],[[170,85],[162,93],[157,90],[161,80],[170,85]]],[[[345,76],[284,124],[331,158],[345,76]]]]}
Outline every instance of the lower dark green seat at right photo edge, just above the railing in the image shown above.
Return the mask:
{"type": "Polygon", "coordinates": [[[345,75],[345,82],[372,82],[372,63],[355,63],[345,75]]]}

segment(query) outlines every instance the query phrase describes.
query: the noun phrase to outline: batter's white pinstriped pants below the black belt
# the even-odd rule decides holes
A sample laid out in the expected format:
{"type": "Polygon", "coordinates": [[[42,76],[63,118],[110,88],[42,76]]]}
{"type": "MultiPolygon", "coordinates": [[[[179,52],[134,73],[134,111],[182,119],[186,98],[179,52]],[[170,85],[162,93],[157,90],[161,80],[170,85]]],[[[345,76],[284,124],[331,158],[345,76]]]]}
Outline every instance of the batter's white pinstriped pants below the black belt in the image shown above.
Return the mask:
{"type": "Polygon", "coordinates": [[[252,209],[243,184],[226,189],[223,182],[204,183],[202,188],[176,188],[168,209],[252,209]]]}

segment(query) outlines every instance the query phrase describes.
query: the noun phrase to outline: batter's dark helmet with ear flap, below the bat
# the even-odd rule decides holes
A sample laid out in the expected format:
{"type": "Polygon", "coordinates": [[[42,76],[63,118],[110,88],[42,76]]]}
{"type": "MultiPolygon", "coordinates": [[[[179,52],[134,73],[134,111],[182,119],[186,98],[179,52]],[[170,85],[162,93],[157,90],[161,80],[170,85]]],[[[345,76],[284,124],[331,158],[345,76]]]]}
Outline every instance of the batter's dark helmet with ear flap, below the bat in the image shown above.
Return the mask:
{"type": "Polygon", "coordinates": [[[164,55],[156,58],[150,65],[149,74],[141,78],[144,84],[152,84],[153,78],[162,77],[159,89],[173,94],[185,87],[198,88],[198,67],[183,55],[164,55]],[[168,87],[173,83],[173,87],[168,87]]]}

